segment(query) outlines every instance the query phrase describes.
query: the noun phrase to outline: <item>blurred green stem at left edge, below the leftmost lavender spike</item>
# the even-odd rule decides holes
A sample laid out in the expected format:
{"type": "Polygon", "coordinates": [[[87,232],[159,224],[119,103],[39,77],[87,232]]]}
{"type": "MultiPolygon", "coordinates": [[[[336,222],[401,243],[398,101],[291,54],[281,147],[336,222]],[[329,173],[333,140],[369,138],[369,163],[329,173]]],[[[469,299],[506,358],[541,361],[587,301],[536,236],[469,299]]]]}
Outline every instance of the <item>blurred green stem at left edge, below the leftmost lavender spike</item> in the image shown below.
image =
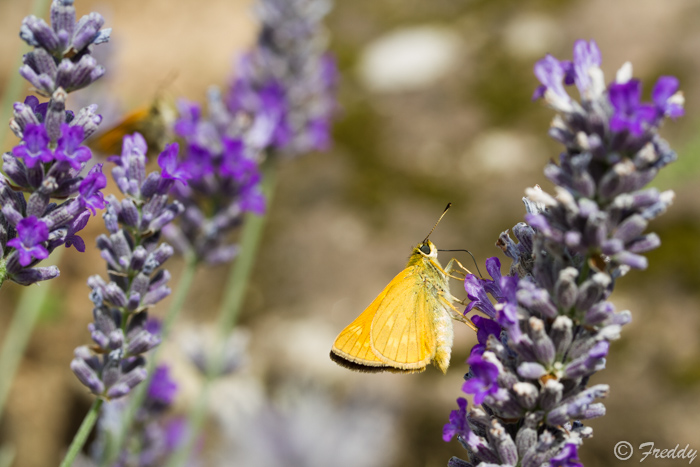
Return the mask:
{"type": "MultiPolygon", "coordinates": [[[[65,248],[54,250],[51,259],[58,263],[64,251],[65,248]]],[[[51,281],[24,287],[15,314],[12,316],[10,327],[5,331],[5,340],[0,350],[0,417],[2,417],[7,396],[10,393],[17,366],[22,360],[24,350],[27,348],[32,330],[39,319],[50,290],[51,281]]]]}

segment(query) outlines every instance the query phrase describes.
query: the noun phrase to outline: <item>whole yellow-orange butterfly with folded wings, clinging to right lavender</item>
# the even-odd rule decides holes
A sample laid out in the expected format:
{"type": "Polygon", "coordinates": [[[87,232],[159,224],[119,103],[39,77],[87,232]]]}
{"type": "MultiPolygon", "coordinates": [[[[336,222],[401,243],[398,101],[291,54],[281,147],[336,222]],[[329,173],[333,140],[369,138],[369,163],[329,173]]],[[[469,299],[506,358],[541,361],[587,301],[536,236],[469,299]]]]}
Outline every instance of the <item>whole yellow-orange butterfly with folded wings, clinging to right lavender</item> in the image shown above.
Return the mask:
{"type": "Polygon", "coordinates": [[[454,258],[443,269],[437,261],[437,247],[428,240],[450,206],[413,249],[406,268],[338,335],[331,360],[366,372],[418,373],[430,363],[447,371],[453,340],[451,318],[476,331],[452,304],[459,300],[450,294],[448,283],[450,277],[463,279],[451,274],[455,263],[466,273],[469,270],[454,258]]]}

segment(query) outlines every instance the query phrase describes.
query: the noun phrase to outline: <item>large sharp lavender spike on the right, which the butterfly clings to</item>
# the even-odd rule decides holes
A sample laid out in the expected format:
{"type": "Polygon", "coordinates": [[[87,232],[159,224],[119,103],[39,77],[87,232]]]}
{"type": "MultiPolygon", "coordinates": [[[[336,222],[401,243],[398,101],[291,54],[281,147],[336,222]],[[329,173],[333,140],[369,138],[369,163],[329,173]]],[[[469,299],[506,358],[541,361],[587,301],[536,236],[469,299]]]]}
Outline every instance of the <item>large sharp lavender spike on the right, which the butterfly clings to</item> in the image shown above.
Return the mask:
{"type": "Polygon", "coordinates": [[[631,320],[607,298],[617,278],[646,268],[642,253],[660,244],[645,229],[673,193],[644,187],[676,159],[657,130],[665,117],[683,114],[683,96],[665,76],[653,103],[642,103],[631,65],[606,87],[600,63],[595,42],[577,41],[573,62],[547,56],[535,65],[542,82],[535,97],[558,112],[550,135],[566,150],[545,168],[555,196],[528,190],[527,223],[513,228],[518,242],[508,231],[498,240],[513,260],[509,275],[489,258],[491,280],[465,280],[465,313],[488,318],[473,317],[479,344],[463,386],[481,407],[467,411],[458,399],[443,431],[446,441],[458,437],[469,462],[452,458],[451,466],[581,466],[578,446],[592,435],[582,421],[605,414],[597,399],[609,387],[588,380],[631,320]],[[565,84],[577,86],[581,102],[565,84]]]}

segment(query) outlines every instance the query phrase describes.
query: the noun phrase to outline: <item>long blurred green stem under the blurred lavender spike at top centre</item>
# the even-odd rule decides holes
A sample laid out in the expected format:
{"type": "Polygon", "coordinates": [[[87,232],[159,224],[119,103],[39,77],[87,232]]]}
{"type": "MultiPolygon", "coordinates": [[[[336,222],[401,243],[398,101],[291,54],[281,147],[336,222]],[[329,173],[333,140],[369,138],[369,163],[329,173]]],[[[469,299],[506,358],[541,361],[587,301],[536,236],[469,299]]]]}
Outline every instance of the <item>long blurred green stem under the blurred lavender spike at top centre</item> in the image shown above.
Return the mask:
{"type": "MultiPolygon", "coordinates": [[[[267,200],[267,210],[269,212],[272,204],[272,195],[275,189],[275,161],[268,160],[262,167],[262,191],[267,200]]],[[[241,233],[240,254],[231,266],[228,281],[226,283],[224,298],[219,309],[219,319],[217,329],[219,330],[218,342],[215,346],[215,353],[208,366],[208,371],[204,379],[202,390],[199,393],[196,403],[188,415],[187,435],[168,461],[168,467],[185,465],[190,457],[192,447],[199,435],[209,401],[211,386],[216,377],[221,374],[225,363],[226,340],[231,334],[233,327],[238,321],[245,292],[248,287],[250,274],[255,264],[258,246],[262,238],[265,226],[266,215],[257,216],[246,214],[241,233]]]]}

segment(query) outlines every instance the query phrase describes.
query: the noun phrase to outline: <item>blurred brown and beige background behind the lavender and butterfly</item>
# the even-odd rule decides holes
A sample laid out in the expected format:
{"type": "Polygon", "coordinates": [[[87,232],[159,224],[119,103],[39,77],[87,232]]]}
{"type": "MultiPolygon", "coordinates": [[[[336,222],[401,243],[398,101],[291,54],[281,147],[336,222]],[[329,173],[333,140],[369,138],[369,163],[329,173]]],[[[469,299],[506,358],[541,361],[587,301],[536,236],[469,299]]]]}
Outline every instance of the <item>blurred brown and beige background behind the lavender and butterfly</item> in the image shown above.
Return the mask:
{"type": "MultiPolygon", "coordinates": [[[[113,28],[102,61],[108,95],[79,91],[71,98],[85,100],[68,106],[100,100],[113,121],[163,89],[203,101],[210,85],[228,83],[257,33],[247,0],[78,0],[76,8],[79,16],[100,12],[113,28]]],[[[0,3],[0,90],[27,50],[18,31],[30,12],[31,2],[0,3]]],[[[612,296],[633,321],[592,380],[611,392],[581,459],[617,465],[613,447],[621,440],[700,449],[698,25],[693,0],[337,2],[327,19],[341,73],[334,146],[280,168],[237,331],[244,363],[217,383],[202,464],[432,467],[465,457],[441,433],[463,395],[472,332],[455,324],[446,376],[432,367],[408,376],[350,372],[328,352],[448,201],[453,208],[432,240],[468,248],[480,264],[499,256],[507,268],[495,241],[523,219],[526,187],[551,189],[542,168],[560,150],[547,137],[552,112],[530,100],[538,85],[532,67],[546,53],[570,59],[578,38],[597,41],[608,81],[631,61],[645,96],[658,76],[678,76],[687,115],[662,132],[680,158],[655,184],[673,188],[676,202],[651,226],[662,246],[649,255],[649,269],[624,277],[612,296]]],[[[0,149],[16,141],[8,134],[0,149]]],[[[17,466],[57,464],[92,402],[69,369],[73,349],[90,339],[85,281],[105,275],[90,248],[104,231],[101,220],[87,229],[88,251],[66,251],[61,276],[41,286],[51,288],[50,303],[0,423],[0,443],[14,445],[17,466]]],[[[466,255],[458,259],[469,267],[466,255]]],[[[180,267],[171,263],[172,287],[180,267]]],[[[199,271],[168,343],[180,386],[176,412],[186,411],[201,384],[183,349],[204,345],[196,343],[212,332],[227,270],[199,271]]],[[[466,296],[458,283],[453,288],[466,296]]],[[[0,338],[21,291],[2,288],[0,338]]]]}

